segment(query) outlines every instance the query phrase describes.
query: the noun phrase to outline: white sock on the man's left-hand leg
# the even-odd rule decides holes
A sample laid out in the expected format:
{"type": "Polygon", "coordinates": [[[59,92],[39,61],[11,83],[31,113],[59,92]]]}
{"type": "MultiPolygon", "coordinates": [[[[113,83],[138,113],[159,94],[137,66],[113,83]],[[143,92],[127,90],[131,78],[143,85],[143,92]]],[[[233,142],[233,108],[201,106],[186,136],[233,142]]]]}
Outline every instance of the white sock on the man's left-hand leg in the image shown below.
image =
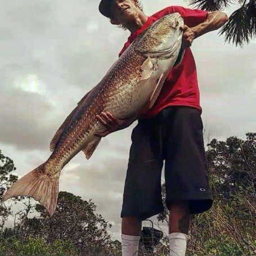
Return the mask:
{"type": "Polygon", "coordinates": [[[122,256],[137,256],[140,236],[121,235],[122,237],[122,256]]]}

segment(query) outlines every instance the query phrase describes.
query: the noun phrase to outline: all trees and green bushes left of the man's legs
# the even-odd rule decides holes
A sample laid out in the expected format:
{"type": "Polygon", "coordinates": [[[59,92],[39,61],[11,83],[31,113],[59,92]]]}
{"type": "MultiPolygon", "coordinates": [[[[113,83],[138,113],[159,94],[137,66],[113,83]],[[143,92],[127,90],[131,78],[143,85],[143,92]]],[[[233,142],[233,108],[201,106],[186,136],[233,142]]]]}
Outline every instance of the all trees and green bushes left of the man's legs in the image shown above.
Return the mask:
{"type": "MultiPolygon", "coordinates": [[[[0,199],[17,176],[11,174],[16,168],[14,161],[0,151],[0,199]]],[[[19,197],[14,200],[21,200],[19,197]]],[[[31,200],[23,202],[26,208],[18,214],[19,222],[14,228],[3,226],[12,210],[0,203],[0,256],[1,255],[87,255],[119,256],[121,244],[111,240],[107,228],[111,227],[100,214],[92,200],[82,200],[68,192],[60,192],[55,214],[50,218],[42,205],[32,206],[31,200]],[[39,217],[29,218],[36,211],[39,217]]],[[[37,214],[37,215],[38,215],[37,214]]]]}

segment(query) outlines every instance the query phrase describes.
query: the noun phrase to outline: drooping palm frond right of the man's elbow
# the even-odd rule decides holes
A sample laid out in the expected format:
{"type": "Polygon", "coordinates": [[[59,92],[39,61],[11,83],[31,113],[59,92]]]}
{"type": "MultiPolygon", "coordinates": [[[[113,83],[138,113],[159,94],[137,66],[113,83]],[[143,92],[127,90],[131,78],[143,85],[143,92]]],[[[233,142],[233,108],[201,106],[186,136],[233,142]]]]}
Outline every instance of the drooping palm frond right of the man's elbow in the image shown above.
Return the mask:
{"type": "MultiPolygon", "coordinates": [[[[253,0],[255,1],[255,0],[253,0]]],[[[251,19],[248,17],[248,5],[243,5],[234,11],[219,34],[225,34],[225,42],[235,43],[236,46],[249,44],[251,39],[251,19]]],[[[254,20],[255,21],[255,20],[254,20]]]]}

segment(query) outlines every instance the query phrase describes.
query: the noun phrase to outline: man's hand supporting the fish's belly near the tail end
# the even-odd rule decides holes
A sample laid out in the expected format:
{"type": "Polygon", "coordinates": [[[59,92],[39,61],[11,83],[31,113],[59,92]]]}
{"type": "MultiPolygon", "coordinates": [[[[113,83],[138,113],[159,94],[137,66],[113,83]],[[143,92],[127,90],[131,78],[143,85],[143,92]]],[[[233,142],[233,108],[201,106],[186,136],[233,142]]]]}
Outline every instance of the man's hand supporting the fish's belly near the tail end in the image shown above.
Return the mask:
{"type": "Polygon", "coordinates": [[[127,118],[127,119],[116,119],[111,113],[109,112],[101,112],[100,115],[96,115],[96,119],[100,121],[107,129],[104,132],[96,132],[95,136],[98,137],[105,137],[112,132],[116,132],[127,128],[136,118],[127,118]]]}

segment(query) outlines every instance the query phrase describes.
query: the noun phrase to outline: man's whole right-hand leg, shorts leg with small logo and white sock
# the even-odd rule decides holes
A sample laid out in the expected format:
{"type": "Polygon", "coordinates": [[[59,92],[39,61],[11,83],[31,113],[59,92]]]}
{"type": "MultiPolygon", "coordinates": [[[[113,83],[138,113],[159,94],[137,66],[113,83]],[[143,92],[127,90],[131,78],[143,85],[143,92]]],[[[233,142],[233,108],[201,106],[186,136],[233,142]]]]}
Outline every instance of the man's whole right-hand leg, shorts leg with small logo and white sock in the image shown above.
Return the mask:
{"type": "Polygon", "coordinates": [[[165,204],[170,210],[170,255],[175,256],[185,255],[190,214],[205,212],[212,206],[200,115],[197,109],[186,106],[163,110],[165,204]]]}

